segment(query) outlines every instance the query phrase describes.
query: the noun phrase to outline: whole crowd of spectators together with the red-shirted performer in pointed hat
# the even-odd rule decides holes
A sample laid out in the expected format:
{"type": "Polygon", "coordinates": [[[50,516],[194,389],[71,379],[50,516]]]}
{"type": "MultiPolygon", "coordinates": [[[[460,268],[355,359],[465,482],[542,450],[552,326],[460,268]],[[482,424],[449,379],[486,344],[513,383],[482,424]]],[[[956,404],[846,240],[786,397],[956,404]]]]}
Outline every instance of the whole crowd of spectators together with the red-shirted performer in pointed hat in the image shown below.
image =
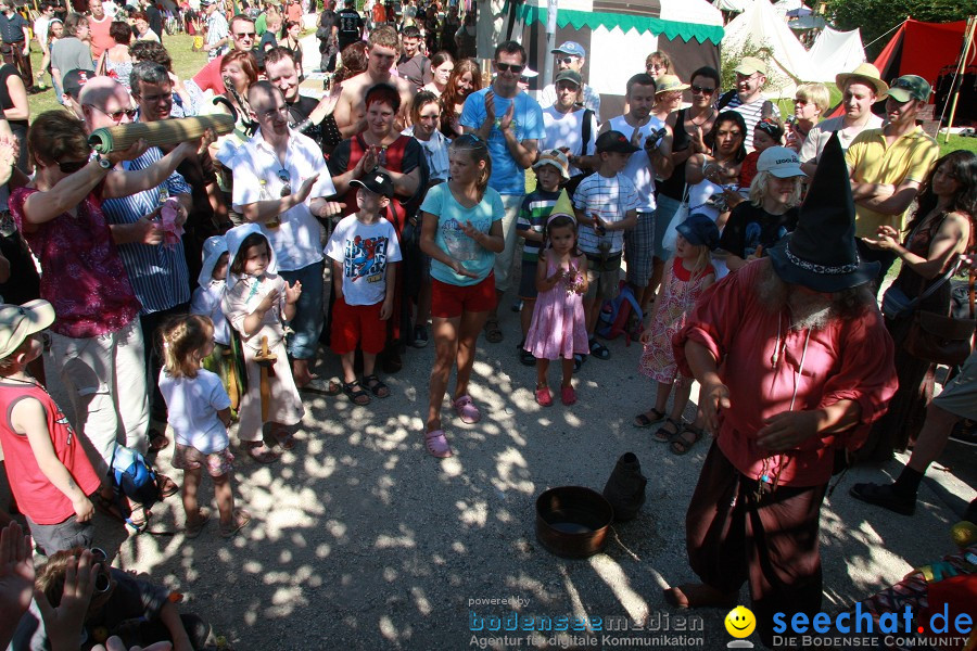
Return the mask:
{"type": "MultiPolygon", "coordinates": [[[[918,335],[908,314],[950,315],[977,217],[977,156],[940,156],[917,126],[931,92],[918,76],[886,84],[871,64],[838,75],[827,119],[828,89],[801,85],[785,122],[763,94],[764,61],[739,61],[723,92],[716,69],[685,81],[654,52],[622,89],[623,113],[608,115],[580,43],[553,50],[555,78],[534,99],[516,41],[495,48],[483,79],[473,12],[460,21],[455,4],[410,0],[396,18],[376,2],[365,20],[346,0],[318,17],[320,69],[334,75],[313,99],[297,2],[228,16],[201,0],[207,63],[192,79],[174,74],[148,7],[115,9],[91,0],[58,18],[43,5],[35,37],[63,110],[28,126],[41,77],[20,59],[0,67],[0,444],[49,557],[39,576],[58,574],[22,641],[45,635],[62,588],[85,591],[103,567],[112,588],[100,593],[154,604],[163,625],[142,641],[199,648],[199,621],[180,623],[157,588],[124,587],[131,578],[104,552],[80,551],[98,542],[94,508],[147,526],[150,513],[109,480],[117,450],[173,445],[182,482],[161,475],[158,493],[181,493],[188,537],[211,518],[196,498],[205,469],[218,534],[231,537],[251,520],[234,499],[232,438],[276,462],[299,444],[305,396],[384,399],[384,378],[431,339],[419,435],[446,458],[453,369],[452,411],[483,418],[470,391],[481,335],[535,366],[542,407],[559,361],[569,407],[574,373],[600,382],[601,319],[626,294],[654,382],[634,426],[675,455],[714,435],[687,514],[703,583],[665,597],[723,605],[748,580],[764,642],[774,611],[820,610],[817,524],[837,452],[885,460],[914,445],[893,485],[852,489],[912,513],[954,423],[977,417],[975,356],[934,399],[936,362],[906,346],[918,335]],[[103,127],[219,113],[232,130],[192,142],[88,144],[103,127]],[[909,311],[884,317],[877,295],[897,258],[886,297],[898,292],[909,311]],[[500,324],[507,295],[518,331],[500,324]],[[339,382],[316,374],[322,345],[339,382]],[[71,419],[45,391],[46,352],[71,419]],[[685,422],[694,382],[698,414],[685,422]]],[[[15,28],[0,17],[4,41],[15,28]]],[[[20,553],[18,531],[0,547],[20,553]]]]}

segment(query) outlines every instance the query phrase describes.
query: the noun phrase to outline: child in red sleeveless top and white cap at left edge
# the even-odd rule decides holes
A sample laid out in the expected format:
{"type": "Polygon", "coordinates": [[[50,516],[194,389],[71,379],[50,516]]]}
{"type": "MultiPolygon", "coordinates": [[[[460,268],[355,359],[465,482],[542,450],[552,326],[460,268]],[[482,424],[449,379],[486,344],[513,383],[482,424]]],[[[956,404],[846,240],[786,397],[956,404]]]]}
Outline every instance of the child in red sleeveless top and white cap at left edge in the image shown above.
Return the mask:
{"type": "Polygon", "coordinates": [[[99,489],[67,418],[25,371],[43,350],[38,333],[53,322],[47,301],[0,305],[0,445],[13,497],[47,556],[91,546],[89,496],[99,489]]]}

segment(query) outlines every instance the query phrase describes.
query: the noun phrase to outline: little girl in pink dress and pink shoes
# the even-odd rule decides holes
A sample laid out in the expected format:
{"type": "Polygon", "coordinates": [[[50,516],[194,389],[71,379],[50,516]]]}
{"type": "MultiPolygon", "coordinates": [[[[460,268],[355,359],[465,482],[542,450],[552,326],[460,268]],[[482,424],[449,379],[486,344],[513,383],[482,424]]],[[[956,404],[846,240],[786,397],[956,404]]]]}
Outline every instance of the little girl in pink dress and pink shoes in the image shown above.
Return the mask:
{"type": "Polygon", "coordinates": [[[549,361],[562,359],[563,381],[560,399],[563,405],[576,401],[573,391],[574,355],[586,355],[587,329],[582,295],[587,291],[587,258],[576,247],[576,219],[555,213],[546,221],[547,248],[536,264],[536,289],[533,320],[525,337],[525,349],[536,359],[536,403],[553,405],[546,382],[549,361]]]}

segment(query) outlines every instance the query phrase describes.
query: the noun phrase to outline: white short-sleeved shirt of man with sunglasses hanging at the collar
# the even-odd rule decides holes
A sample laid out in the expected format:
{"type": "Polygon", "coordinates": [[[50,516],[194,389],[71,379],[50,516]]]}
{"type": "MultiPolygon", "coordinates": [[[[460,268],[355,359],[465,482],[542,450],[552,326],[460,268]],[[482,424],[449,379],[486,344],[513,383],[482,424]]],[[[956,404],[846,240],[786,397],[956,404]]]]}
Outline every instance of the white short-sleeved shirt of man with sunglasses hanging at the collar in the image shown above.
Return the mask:
{"type": "Polygon", "coordinates": [[[241,206],[261,200],[261,182],[271,199],[281,196],[284,174],[288,173],[292,192],[297,192],[302,182],[315,174],[319,180],[313,186],[308,199],[304,203],[292,206],[281,214],[281,226],[268,228],[262,224],[262,233],[268,238],[275,256],[278,258],[279,271],[297,271],[322,259],[319,242],[319,222],[308,209],[313,199],[335,194],[332,176],[322,158],[322,150],[308,136],[291,131],[284,165],[279,163],[278,155],[258,130],[254,138],[240,146],[231,165],[234,170],[234,191],[232,204],[236,210],[241,206]]]}

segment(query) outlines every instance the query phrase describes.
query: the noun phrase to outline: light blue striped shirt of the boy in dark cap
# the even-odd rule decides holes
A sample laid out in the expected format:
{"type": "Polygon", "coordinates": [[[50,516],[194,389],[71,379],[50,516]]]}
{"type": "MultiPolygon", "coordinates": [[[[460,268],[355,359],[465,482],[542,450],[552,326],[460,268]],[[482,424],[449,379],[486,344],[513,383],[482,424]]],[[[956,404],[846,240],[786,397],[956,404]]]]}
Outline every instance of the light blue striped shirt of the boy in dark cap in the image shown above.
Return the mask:
{"type": "MultiPolygon", "coordinates": [[[[636,210],[639,205],[637,191],[627,177],[617,174],[610,178],[592,174],[580,182],[573,193],[573,207],[589,216],[597,213],[604,221],[623,221],[629,210],[636,210]]],[[[608,253],[619,253],[624,248],[624,231],[607,231],[600,237],[594,227],[581,225],[579,235],[580,248],[584,253],[599,254],[600,241],[610,243],[608,253]]]]}

